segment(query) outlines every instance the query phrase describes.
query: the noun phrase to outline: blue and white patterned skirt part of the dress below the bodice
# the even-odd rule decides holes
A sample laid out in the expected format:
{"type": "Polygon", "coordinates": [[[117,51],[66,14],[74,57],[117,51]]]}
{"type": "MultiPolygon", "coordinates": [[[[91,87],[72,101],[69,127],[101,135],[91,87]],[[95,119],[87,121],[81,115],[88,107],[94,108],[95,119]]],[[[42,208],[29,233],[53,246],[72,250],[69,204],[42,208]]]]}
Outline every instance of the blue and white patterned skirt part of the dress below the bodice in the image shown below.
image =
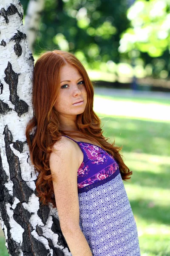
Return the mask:
{"type": "Polygon", "coordinates": [[[140,256],[136,222],[121,175],[78,194],[80,228],[93,256],[140,256]]]}

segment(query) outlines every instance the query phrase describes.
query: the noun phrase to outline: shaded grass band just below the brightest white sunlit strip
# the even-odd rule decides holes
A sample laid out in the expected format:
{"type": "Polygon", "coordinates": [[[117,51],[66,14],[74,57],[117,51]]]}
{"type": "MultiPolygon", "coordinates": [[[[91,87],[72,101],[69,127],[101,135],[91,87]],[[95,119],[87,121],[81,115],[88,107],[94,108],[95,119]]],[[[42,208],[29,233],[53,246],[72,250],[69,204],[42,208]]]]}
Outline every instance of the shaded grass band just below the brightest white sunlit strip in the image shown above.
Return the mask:
{"type": "Polygon", "coordinates": [[[170,123],[116,116],[105,116],[101,120],[104,136],[109,137],[110,142],[115,139],[115,145],[123,145],[123,150],[170,156],[170,123]]]}

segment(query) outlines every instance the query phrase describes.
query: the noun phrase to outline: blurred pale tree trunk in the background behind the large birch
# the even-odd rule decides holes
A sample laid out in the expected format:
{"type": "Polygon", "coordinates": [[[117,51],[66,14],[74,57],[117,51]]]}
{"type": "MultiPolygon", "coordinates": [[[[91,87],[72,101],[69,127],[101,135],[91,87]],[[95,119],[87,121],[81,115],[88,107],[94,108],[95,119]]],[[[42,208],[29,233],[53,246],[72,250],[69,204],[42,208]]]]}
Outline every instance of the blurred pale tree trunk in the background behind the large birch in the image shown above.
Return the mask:
{"type": "Polygon", "coordinates": [[[28,38],[29,49],[32,52],[34,52],[34,42],[37,38],[44,5],[45,0],[29,0],[28,2],[24,28],[28,38]]]}

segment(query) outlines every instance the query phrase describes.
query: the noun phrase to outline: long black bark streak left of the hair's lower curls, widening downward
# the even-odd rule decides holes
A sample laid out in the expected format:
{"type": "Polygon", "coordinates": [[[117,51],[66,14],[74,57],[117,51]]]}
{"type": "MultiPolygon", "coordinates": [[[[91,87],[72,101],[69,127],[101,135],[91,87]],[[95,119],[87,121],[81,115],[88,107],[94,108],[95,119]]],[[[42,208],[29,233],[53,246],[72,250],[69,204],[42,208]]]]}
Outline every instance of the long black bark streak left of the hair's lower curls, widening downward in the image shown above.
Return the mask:
{"type": "Polygon", "coordinates": [[[9,165],[10,179],[13,182],[13,195],[17,197],[20,202],[28,203],[29,197],[32,195],[33,190],[27,186],[25,180],[22,179],[20,161],[19,158],[13,153],[10,148],[12,144],[12,134],[9,131],[7,125],[4,128],[3,134],[5,134],[5,148],[6,148],[6,157],[9,165]]]}

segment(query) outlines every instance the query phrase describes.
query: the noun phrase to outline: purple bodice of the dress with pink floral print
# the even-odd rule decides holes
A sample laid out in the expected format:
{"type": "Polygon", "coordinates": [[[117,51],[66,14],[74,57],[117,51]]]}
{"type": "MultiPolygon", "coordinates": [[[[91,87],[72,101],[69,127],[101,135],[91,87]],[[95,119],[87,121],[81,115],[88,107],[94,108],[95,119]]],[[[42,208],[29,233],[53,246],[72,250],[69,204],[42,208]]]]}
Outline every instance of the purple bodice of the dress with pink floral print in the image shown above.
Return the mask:
{"type": "Polygon", "coordinates": [[[99,186],[106,180],[108,181],[109,177],[113,179],[113,176],[116,177],[120,173],[114,158],[103,148],[82,141],[74,140],[74,142],[79,145],[84,155],[82,164],[77,171],[78,193],[99,186]]]}

